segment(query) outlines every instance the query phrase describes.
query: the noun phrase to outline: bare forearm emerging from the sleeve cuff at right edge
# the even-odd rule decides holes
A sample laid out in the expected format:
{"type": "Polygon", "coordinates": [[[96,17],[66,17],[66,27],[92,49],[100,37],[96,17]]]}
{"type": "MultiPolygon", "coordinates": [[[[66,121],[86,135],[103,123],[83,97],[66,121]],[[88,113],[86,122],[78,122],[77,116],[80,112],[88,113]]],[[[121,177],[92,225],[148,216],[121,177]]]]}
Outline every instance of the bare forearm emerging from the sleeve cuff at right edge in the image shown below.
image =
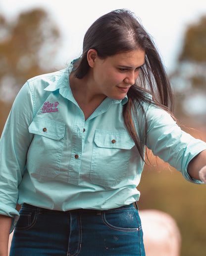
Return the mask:
{"type": "Polygon", "coordinates": [[[194,157],[188,165],[188,174],[191,178],[201,180],[199,171],[206,166],[206,150],[194,157]]]}

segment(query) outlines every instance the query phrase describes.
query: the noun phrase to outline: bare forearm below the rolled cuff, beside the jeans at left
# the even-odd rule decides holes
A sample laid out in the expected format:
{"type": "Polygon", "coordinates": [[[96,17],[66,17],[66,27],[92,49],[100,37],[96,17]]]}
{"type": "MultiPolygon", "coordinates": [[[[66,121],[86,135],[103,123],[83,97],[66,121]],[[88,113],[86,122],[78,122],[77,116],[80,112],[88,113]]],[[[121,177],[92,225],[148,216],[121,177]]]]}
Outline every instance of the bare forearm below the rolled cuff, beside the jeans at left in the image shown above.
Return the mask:
{"type": "Polygon", "coordinates": [[[8,238],[12,218],[0,215],[0,256],[8,256],[8,238]]]}

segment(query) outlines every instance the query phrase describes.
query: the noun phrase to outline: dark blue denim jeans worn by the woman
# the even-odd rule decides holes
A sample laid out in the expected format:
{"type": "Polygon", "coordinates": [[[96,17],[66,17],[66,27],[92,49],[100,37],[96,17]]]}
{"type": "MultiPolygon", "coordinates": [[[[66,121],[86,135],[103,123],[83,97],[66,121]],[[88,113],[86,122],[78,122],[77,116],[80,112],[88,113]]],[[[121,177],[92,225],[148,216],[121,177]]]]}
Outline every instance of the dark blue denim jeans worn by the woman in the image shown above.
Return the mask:
{"type": "Polygon", "coordinates": [[[67,212],[23,204],[10,256],[145,256],[138,210],[67,212]]]}

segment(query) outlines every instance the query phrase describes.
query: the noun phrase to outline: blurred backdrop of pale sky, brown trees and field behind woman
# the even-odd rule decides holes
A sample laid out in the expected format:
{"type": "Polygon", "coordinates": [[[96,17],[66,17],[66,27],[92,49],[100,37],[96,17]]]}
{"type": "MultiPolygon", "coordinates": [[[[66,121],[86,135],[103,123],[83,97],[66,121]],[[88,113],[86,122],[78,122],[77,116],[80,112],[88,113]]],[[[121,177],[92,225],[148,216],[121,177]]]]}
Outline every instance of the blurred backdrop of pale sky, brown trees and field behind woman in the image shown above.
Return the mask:
{"type": "MultiPolygon", "coordinates": [[[[82,52],[88,27],[118,8],[133,11],[153,36],[175,93],[182,129],[206,141],[205,0],[0,0],[0,134],[21,86],[36,75],[65,68],[82,52]]],[[[184,180],[151,157],[139,209],[158,209],[177,222],[181,256],[206,256],[206,187],[184,180]]]]}

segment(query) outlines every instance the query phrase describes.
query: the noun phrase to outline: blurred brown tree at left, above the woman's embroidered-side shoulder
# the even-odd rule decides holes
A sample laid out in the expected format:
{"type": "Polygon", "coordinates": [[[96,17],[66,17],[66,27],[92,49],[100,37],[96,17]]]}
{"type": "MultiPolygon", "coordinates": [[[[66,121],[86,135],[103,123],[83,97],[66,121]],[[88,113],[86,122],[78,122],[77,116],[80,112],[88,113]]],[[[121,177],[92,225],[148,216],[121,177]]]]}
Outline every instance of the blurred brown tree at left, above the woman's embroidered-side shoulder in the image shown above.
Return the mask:
{"type": "Polygon", "coordinates": [[[33,9],[15,22],[0,15],[0,98],[13,101],[27,79],[50,72],[59,31],[48,13],[33,9]]]}

